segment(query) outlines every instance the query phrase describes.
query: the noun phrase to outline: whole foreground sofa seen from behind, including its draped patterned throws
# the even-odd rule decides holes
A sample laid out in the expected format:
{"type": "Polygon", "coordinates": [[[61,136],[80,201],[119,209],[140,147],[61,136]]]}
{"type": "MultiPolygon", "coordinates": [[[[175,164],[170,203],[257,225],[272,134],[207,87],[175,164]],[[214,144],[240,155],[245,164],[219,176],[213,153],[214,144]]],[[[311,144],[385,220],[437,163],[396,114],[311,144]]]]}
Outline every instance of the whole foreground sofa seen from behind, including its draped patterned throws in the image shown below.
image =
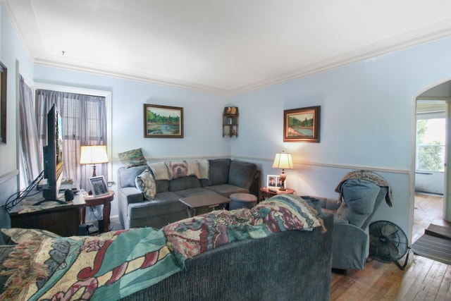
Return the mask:
{"type": "MultiPolygon", "coordinates": [[[[85,300],[99,300],[99,294],[104,300],[118,300],[121,295],[121,300],[329,300],[333,216],[316,214],[308,206],[292,206],[289,198],[268,199],[253,209],[214,211],[158,230],[132,228],[94,237],[41,238],[36,246],[39,254],[32,255],[32,264],[23,270],[26,278],[34,279],[39,274],[27,269],[45,262],[49,278],[27,279],[28,288],[16,283],[16,278],[13,283],[30,297],[59,295],[68,300],[79,291],[85,292],[85,300]],[[196,228],[199,223],[204,225],[202,230],[196,228]],[[187,245],[197,237],[205,241],[187,245]],[[198,254],[193,250],[199,250],[198,254]],[[178,256],[185,259],[179,261],[178,256]],[[175,262],[179,268],[169,272],[175,262]]],[[[25,235],[21,234],[22,242],[16,241],[21,245],[15,251],[30,257],[33,252],[27,248],[35,240],[25,235]]],[[[12,250],[11,245],[0,246],[0,271],[5,270],[1,263],[12,250]]],[[[16,258],[22,259],[20,254],[16,258]]],[[[22,266],[16,260],[14,264],[11,277],[22,266]]],[[[6,279],[0,276],[0,294],[6,279]]]]}

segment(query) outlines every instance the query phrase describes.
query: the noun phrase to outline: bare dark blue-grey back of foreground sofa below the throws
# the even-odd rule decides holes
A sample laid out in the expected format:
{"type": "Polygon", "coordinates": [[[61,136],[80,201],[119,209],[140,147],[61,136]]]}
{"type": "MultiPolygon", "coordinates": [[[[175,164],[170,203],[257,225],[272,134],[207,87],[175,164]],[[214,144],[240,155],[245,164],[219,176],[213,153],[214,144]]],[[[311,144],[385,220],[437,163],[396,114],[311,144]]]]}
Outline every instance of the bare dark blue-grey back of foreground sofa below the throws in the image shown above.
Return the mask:
{"type": "Polygon", "coordinates": [[[187,259],[185,270],[121,300],[329,300],[333,216],[320,217],[326,233],[233,242],[187,259]]]}

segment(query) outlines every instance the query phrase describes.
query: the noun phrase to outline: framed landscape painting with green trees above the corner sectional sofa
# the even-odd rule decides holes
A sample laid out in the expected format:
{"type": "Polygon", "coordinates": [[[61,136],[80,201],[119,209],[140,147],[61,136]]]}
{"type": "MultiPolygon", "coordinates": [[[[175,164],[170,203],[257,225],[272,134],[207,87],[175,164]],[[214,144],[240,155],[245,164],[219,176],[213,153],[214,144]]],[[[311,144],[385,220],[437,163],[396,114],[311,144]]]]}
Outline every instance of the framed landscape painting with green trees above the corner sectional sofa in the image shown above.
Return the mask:
{"type": "Polygon", "coordinates": [[[144,104],[144,138],[183,138],[183,108],[144,104]]]}

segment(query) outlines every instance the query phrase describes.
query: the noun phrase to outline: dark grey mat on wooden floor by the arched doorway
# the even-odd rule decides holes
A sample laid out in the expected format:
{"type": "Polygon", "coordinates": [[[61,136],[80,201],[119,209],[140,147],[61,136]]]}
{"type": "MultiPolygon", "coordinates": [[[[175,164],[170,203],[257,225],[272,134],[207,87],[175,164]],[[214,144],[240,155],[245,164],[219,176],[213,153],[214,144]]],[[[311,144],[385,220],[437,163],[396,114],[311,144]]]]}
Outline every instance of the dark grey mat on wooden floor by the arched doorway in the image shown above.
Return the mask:
{"type": "Polygon", "coordinates": [[[412,245],[415,254],[429,259],[451,264],[451,227],[431,223],[412,245]]]}

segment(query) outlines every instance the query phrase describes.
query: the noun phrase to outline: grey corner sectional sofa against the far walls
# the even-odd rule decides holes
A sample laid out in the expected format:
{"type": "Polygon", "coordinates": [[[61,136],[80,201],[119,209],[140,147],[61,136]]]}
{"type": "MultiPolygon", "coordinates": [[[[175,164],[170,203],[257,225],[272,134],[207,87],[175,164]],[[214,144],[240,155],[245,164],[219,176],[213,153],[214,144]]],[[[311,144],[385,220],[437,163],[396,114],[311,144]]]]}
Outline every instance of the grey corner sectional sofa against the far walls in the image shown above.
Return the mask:
{"type": "Polygon", "coordinates": [[[121,166],[118,168],[117,192],[119,220],[124,229],[161,228],[187,218],[187,207],[178,200],[182,197],[214,194],[229,197],[233,193],[251,193],[259,197],[259,188],[257,165],[245,161],[204,159],[121,166]],[[187,164],[188,172],[182,175],[174,167],[180,163],[187,164]],[[147,190],[137,185],[137,177],[145,171],[154,174],[154,195],[146,194],[147,190]]]}

